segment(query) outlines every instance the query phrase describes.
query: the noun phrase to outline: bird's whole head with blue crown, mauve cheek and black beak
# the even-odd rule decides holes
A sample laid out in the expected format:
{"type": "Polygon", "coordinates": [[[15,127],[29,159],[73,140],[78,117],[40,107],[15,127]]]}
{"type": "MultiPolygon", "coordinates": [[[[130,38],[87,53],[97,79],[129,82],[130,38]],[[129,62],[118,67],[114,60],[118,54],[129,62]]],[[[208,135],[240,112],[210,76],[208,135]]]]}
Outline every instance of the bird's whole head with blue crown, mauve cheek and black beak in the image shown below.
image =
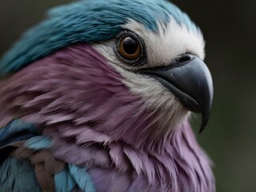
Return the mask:
{"type": "Polygon", "coordinates": [[[61,124],[64,136],[77,126],[80,142],[91,130],[106,136],[99,142],[142,142],[150,130],[154,142],[190,111],[202,113],[202,131],[213,99],[204,55],[201,31],[170,2],[74,2],[2,58],[0,104],[11,118],[61,124]]]}

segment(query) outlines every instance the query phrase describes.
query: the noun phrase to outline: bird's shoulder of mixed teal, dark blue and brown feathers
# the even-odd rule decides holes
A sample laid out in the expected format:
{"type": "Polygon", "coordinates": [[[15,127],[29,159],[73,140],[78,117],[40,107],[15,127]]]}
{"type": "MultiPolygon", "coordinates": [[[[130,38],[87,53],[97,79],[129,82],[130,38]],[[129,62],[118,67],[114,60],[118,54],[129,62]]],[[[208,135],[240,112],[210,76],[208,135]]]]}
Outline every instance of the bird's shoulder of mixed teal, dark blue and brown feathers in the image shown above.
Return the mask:
{"type": "Polygon", "coordinates": [[[0,129],[0,191],[95,191],[86,168],[58,160],[50,138],[14,120],[0,129]]]}

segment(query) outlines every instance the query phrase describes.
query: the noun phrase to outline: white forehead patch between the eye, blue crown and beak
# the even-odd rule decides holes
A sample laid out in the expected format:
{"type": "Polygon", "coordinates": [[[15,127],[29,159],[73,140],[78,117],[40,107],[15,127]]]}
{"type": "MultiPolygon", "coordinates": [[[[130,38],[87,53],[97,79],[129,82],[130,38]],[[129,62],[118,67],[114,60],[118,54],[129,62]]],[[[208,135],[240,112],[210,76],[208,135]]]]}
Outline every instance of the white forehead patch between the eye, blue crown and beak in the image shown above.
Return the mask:
{"type": "Polygon", "coordinates": [[[174,18],[167,25],[158,23],[158,33],[147,30],[141,23],[130,20],[124,29],[132,30],[146,45],[147,59],[151,67],[168,66],[180,54],[195,54],[205,58],[205,42],[202,34],[178,25],[174,18]]]}

